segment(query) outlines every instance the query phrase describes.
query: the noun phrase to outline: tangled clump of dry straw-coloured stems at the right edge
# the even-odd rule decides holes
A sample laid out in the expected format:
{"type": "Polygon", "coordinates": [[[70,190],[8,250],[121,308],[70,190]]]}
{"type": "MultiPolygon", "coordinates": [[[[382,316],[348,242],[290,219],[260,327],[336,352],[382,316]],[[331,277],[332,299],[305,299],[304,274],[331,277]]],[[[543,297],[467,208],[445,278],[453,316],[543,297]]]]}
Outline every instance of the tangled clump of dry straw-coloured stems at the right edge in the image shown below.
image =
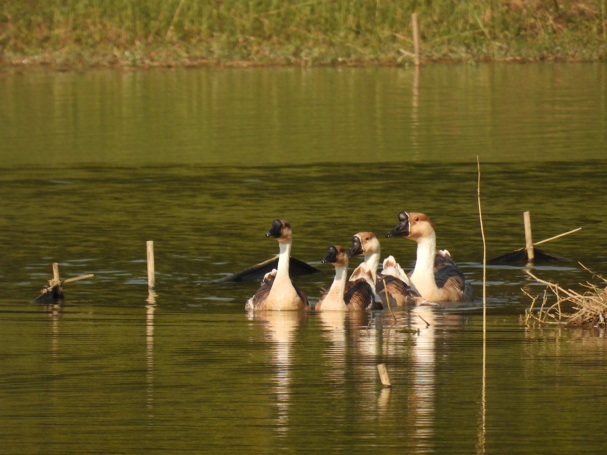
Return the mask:
{"type": "MultiPolygon", "coordinates": [[[[607,280],[601,275],[587,269],[582,263],[580,265],[591,272],[593,277],[600,278],[600,280],[607,283],[607,280]]],[[[587,288],[588,291],[583,294],[572,291],[571,289],[564,289],[555,283],[549,283],[548,281],[540,280],[540,278],[533,275],[530,271],[526,271],[526,274],[546,285],[544,290],[543,300],[537,312],[534,312],[534,306],[540,296],[533,297],[527,291],[523,289],[524,294],[528,295],[531,299],[531,308],[525,310],[524,320],[521,320],[526,325],[544,325],[544,324],[558,324],[558,325],[591,325],[598,327],[607,326],[607,286],[600,288],[599,286],[593,285],[590,282],[586,284],[580,283],[583,287],[587,288]],[[556,299],[555,303],[549,304],[549,293],[556,299]],[[572,305],[572,313],[561,310],[561,305],[572,305]]]]}

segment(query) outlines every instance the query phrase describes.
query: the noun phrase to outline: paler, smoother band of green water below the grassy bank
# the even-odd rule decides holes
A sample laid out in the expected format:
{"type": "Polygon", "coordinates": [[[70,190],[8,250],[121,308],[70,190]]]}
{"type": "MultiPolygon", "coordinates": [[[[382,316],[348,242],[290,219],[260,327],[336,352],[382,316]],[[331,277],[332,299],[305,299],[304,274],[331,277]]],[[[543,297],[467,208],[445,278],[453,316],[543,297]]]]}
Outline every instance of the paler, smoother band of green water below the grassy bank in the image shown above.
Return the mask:
{"type": "Polygon", "coordinates": [[[605,64],[0,74],[5,165],[605,158],[605,64]]]}

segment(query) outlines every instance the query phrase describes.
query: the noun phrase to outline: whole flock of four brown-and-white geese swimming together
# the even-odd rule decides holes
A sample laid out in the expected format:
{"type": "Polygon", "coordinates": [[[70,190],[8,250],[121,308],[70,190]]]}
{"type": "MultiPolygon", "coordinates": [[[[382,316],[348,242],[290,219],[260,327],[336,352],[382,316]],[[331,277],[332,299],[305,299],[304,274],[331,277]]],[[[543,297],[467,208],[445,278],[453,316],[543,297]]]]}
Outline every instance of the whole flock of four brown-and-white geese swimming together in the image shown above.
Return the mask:
{"type": "MultiPolygon", "coordinates": [[[[455,265],[449,251],[436,249],[434,224],[427,215],[401,212],[399,224],[386,237],[405,237],[417,242],[415,268],[405,274],[395,258],[388,256],[378,274],[381,249],[373,232],[359,232],[349,251],[339,245],[327,248],[323,263],[335,268],[331,286],[320,295],[315,311],[356,311],[383,309],[386,305],[407,306],[422,302],[469,302],[472,285],[455,265]],[[364,260],[347,277],[350,258],[364,260]]],[[[259,289],[247,300],[247,311],[310,310],[308,297],[289,276],[293,232],[285,220],[274,220],[266,237],[279,244],[277,268],[263,277],[259,289]]]]}

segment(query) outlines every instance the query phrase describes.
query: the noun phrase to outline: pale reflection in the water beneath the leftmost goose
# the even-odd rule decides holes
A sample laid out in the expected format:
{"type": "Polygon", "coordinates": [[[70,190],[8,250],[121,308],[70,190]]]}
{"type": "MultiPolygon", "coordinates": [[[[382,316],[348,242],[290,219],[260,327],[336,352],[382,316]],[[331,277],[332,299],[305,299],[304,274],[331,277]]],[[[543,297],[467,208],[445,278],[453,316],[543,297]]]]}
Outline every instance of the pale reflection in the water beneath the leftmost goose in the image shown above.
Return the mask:
{"type": "Polygon", "coordinates": [[[308,319],[308,312],[263,310],[249,312],[251,320],[260,321],[260,326],[274,348],[270,349],[272,363],[276,367],[274,374],[274,391],[278,411],[276,431],[287,436],[289,430],[289,406],[291,404],[291,370],[292,350],[295,335],[299,326],[308,319]]]}

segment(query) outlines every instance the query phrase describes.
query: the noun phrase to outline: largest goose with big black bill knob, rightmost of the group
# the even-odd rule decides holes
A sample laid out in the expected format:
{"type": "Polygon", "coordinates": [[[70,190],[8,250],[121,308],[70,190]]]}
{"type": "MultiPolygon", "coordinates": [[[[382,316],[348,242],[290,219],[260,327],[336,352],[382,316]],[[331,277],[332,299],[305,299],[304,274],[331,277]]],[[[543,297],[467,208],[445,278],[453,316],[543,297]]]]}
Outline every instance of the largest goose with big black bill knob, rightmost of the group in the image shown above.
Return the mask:
{"type": "Polygon", "coordinates": [[[385,236],[406,237],[417,242],[417,260],[409,278],[419,295],[428,302],[471,302],[474,292],[470,281],[466,281],[449,251],[436,250],[432,220],[413,212],[400,212],[398,220],[398,226],[385,236]]]}

